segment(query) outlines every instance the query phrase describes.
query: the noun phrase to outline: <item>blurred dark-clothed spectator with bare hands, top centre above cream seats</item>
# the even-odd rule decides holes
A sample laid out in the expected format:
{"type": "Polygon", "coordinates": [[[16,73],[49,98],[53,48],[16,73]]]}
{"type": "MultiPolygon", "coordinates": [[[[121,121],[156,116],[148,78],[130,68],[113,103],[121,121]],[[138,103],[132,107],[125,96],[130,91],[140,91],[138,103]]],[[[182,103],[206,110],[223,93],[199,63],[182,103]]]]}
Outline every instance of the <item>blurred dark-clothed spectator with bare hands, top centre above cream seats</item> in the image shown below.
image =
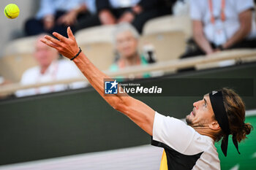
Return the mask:
{"type": "Polygon", "coordinates": [[[167,0],[96,0],[98,15],[81,21],[78,29],[127,22],[141,33],[147,20],[170,14],[167,4],[167,0]]]}

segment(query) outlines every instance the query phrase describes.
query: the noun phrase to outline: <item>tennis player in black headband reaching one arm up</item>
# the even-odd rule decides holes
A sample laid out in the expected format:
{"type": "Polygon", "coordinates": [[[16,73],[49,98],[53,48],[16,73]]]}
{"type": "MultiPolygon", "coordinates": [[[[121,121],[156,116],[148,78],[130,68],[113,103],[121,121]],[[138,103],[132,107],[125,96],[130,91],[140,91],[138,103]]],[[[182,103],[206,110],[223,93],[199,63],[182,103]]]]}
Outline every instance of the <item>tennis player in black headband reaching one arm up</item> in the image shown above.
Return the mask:
{"type": "MultiPolygon", "coordinates": [[[[238,142],[246,138],[252,125],[244,123],[245,107],[241,98],[227,88],[212,91],[193,104],[187,124],[173,117],[165,117],[130,96],[104,95],[104,79],[110,78],[84,55],[70,28],[68,38],[53,33],[57,39],[45,36],[46,45],[75,62],[97,92],[111,107],[127,115],[152,136],[152,144],[164,148],[160,169],[220,169],[214,142],[222,139],[222,152],[227,155],[228,136],[238,150],[238,142]]],[[[86,37],[85,37],[86,38],[86,37]]],[[[239,151],[238,151],[239,153],[239,151]]]]}

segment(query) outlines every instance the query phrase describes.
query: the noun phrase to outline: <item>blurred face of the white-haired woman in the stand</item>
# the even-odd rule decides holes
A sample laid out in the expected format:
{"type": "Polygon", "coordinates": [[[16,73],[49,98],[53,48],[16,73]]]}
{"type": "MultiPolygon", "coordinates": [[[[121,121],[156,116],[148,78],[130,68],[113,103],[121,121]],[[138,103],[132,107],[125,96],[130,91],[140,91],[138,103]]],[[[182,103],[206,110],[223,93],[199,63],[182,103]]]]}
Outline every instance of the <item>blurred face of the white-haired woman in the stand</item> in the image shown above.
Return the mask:
{"type": "Polygon", "coordinates": [[[116,35],[116,50],[123,58],[130,58],[137,53],[138,40],[131,31],[124,31],[116,35]]]}

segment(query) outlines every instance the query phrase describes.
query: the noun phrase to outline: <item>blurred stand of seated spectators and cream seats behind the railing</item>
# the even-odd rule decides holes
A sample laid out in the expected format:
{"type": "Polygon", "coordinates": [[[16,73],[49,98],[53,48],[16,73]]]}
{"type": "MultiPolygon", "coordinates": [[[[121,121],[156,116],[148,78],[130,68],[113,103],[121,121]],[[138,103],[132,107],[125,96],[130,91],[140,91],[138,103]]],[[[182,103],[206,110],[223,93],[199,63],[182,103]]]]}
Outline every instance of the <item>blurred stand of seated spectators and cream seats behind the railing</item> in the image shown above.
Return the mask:
{"type": "MultiPolygon", "coordinates": [[[[41,0],[1,1],[20,7],[15,20],[0,16],[1,85],[69,80],[82,75],[75,64],[39,41],[53,31],[67,36],[71,26],[78,45],[102,71],[211,55],[256,47],[255,1],[230,0],[41,0]],[[72,73],[72,74],[71,74],[72,73]]],[[[236,65],[223,61],[212,66],[236,65]]],[[[193,72],[197,66],[174,70],[193,72]]],[[[165,74],[144,72],[129,78],[165,74]]],[[[126,78],[119,75],[118,78],[126,78]]],[[[17,90],[31,96],[73,88],[87,82],[17,90]]]]}

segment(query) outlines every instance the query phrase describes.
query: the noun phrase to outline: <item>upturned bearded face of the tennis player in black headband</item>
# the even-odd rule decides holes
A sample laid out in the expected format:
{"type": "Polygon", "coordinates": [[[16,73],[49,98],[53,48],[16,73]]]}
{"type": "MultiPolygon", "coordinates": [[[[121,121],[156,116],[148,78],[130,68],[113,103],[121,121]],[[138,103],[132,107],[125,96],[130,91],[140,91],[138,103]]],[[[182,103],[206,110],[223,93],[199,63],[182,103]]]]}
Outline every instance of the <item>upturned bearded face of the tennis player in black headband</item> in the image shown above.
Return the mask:
{"type": "Polygon", "coordinates": [[[209,95],[203,96],[203,99],[193,104],[193,110],[186,117],[188,125],[197,127],[208,126],[214,121],[214,111],[211,107],[209,95]]]}

